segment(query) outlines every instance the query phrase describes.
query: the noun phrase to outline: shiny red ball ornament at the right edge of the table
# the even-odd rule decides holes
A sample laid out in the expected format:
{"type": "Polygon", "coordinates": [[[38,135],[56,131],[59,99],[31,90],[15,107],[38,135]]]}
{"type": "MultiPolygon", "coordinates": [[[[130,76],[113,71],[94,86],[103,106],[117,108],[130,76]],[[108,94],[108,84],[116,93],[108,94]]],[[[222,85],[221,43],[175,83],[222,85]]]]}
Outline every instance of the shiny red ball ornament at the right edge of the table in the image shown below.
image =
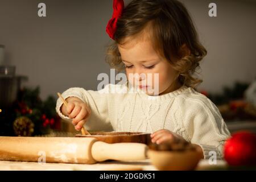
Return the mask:
{"type": "Polygon", "coordinates": [[[256,135],[249,131],[233,134],[225,143],[224,158],[230,166],[256,165],[256,135]]]}

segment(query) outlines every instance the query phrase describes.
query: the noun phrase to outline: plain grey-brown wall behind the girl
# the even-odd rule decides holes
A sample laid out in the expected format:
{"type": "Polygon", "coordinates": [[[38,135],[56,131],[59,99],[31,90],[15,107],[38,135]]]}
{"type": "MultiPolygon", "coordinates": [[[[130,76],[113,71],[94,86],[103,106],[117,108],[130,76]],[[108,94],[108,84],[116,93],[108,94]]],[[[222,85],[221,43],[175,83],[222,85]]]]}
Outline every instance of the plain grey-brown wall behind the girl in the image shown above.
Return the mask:
{"type": "MultiPolygon", "coordinates": [[[[129,1],[125,1],[127,3],[129,1]]],[[[201,64],[199,89],[221,92],[235,81],[256,77],[256,1],[183,0],[191,12],[200,40],[208,50],[201,64]],[[208,5],[217,4],[217,17],[208,5]]],[[[110,73],[105,32],[112,16],[112,0],[36,1],[0,0],[0,44],[6,64],[28,76],[27,86],[40,86],[41,97],[79,86],[97,89],[97,75],[110,73]],[[38,3],[46,3],[45,18],[38,3]]]]}

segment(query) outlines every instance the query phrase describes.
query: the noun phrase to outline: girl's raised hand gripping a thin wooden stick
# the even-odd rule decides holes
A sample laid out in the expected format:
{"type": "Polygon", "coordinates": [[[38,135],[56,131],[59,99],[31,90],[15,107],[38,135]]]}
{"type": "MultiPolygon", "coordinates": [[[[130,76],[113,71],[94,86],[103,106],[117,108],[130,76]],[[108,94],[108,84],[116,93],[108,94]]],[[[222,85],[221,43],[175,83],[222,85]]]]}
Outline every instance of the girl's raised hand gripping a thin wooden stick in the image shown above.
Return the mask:
{"type": "Polygon", "coordinates": [[[61,106],[61,111],[64,115],[73,119],[72,123],[75,125],[75,129],[79,131],[90,115],[90,108],[77,97],[68,97],[66,100],[68,106],[67,108],[61,106]]]}

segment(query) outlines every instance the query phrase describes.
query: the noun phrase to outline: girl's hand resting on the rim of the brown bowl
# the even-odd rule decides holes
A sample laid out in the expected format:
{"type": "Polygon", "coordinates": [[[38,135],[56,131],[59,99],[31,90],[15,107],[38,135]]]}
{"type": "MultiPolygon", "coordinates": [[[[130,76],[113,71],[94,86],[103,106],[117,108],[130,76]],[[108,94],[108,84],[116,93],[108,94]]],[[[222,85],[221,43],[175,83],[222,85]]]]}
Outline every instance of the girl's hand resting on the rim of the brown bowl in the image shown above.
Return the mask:
{"type": "Polygon", "coordinates": [[[183,137],[181,137],[180,135],[176,134],[176,133],[173,133],[169,130],[158,130],[158,131],[155,131],[154,133],[152,133],[150,135],[151,137],[151,142],[152,143],[155,143],[156,144],[160,144],[160,143],[163,143],[167,140],[169,141],[175,141],[175,142],[179,142],[179,141],[184,141],[185,142],[185,139],[183,137]]]}

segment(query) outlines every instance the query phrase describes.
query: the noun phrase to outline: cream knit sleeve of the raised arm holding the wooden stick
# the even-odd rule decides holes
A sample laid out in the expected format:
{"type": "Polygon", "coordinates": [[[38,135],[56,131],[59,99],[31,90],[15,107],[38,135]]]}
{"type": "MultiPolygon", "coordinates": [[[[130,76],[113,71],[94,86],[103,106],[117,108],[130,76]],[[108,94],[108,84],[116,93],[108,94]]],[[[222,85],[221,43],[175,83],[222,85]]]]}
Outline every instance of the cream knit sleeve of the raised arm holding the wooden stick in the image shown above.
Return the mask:
{"type": "MultiPolygon", "coordinates": [[[[64,99],[68,97],[77,97],[90,107],[92,112],[85,123],[87,130],[113,131],[109,118],[108,88],[109,85],[106,85],[104,89],[99,91],[85,90],[83,88],[69,88],[62,93],[64,99]]],[[[63,102],[58,98],[56,111],[61,118],[71,122],[72,119],[69,119],[61,113],[60,107],[62,104],[63,102]]]]}

